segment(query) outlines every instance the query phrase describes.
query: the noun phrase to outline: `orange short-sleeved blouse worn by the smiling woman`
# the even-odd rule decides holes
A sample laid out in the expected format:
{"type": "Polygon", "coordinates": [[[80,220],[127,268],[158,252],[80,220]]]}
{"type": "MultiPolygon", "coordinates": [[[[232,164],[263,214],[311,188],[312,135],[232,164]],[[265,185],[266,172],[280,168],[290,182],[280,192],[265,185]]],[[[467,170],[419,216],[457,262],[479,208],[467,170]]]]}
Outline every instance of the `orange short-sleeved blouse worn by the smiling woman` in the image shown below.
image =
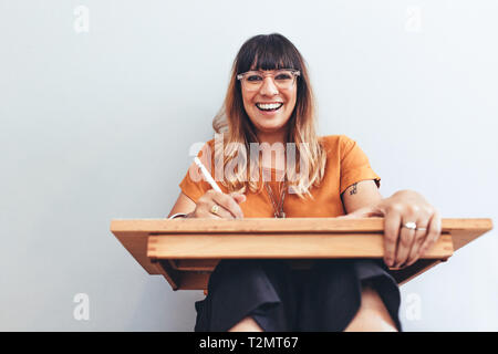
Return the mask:
{"type": "MultiPolygon", "coordinates": [[[[320,137],[323,146],[326,149],[326,166],[324,178],[319,187],[312,187],[310,192],[314,197],[310,199],[301,199],[294,194],[287,194],[283,202],[283,211],[287,218],[325,218],[338,217],[344,215],[344,207],[341,200],[341,194],[351,185],[365,180],[374,179],[377,187],[381,186],[381,177],[378,177],[370,166],[369,158],[353,139],[345,135],[328,135],[320,137]]],[[[211,152],[215,152],[215,139],[206,143],[211,152]]],[[[205,145],[205,147],[206,147],[205,145]]],[[[197,155],[199,158],[203,155],[203,149],[197,155]]],[[[206,165],[207,170],[215,177],[215,158],[211,154],[211,166],[206,165]],[[212,167],[212,168],[211,168],[212,167]]],[[[268,181],[272,188],[273,196],[277,202],[280,199],[279,188],[281,181],[276,178],[280,176],[280,170],[268,169],[271,173],[271,180],[268,181]]],[[[281,171],[283,173],[283,171],[281,171]]],[[[218,183],[218,186],[224,192],[228,189],[218,183]]],[[[197,200],[209,189],[210,185],[201,179],[199,168],[191,164],[185,178],[179,184],[181,191],[191,200],[197,200]],[[194,181],[190,176],[197,176],[194,181]]],[[[240,204],[245,218],[272,218],[273,206],[266,188],[260,192],[252,192],[249,188],[246,189],[246,201],[240,204]]]]}

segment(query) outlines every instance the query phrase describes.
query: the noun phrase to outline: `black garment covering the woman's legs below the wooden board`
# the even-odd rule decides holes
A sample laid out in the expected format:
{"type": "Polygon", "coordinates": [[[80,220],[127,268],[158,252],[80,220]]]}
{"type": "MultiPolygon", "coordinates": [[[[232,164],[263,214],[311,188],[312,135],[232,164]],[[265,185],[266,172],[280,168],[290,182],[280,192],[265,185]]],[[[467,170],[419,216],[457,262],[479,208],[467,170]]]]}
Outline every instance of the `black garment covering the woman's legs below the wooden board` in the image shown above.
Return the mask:
{"type": "Polygon", "coordinates": [[[400,289],[382,260],[314,260],[293,270],[286,260],[221,260],[207,296],[195,303],[196,332],[226,332],[251,316],[268,332],[338,332],[361,305],[362,282],[383,300],[398,331],[400,289]]]}

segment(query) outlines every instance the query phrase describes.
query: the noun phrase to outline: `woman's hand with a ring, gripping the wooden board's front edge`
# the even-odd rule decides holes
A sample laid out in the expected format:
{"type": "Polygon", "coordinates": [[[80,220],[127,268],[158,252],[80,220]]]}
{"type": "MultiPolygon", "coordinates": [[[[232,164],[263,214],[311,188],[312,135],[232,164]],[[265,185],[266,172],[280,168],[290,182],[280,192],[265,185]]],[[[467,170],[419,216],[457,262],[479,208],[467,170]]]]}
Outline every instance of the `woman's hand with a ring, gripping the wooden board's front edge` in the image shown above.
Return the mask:
{"type": "Polygon", "coordinates": [[[384,217],[384,262],[388,267],[412,266],[440,236],[439,212],[413,190],[397,191],[377,205],[341,218],[367,217],[384,217]]]}

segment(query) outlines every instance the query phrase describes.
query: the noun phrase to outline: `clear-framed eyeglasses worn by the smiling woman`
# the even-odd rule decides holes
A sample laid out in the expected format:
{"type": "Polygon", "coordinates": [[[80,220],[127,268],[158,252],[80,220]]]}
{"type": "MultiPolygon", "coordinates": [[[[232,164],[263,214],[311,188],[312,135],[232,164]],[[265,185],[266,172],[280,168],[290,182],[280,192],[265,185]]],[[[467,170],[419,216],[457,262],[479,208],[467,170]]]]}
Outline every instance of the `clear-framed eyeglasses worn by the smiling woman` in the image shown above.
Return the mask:
{"type": "Polygon", "coordinates": [[[258,91],[267,76],[272,76],[273,82],[280,90],[289,90],[294,84],[295,77],[301,75],[299,70],[294,69],[279,69],[273,70],[271,73],[264,73],[262,71],[248,71],[237,75],[240,80],[242,87],[247,91],[258,91]]]}

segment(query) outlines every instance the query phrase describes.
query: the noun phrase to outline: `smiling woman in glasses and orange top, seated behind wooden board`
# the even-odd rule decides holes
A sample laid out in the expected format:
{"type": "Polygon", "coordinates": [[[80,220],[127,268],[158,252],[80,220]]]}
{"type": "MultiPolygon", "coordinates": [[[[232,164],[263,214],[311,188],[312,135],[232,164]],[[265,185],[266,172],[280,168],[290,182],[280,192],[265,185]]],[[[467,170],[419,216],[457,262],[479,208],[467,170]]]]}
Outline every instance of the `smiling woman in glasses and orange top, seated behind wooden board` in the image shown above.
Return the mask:
{"type": "Polygon", "coordinates": [[[380,216],[384,262],[315,260],[299,270],[283,260],[222,260],[196,303],[196,331],[402,330],[387,267],[413,264],[439,237],[440,217],[412,190],[382,198],[365,154],[344,135],[317,136],[314,111],[295,46],[278,33],[246,41],[214,119],[218,134],[198,155],[222,191],[193,165],[169,217],[380,216]]]}

